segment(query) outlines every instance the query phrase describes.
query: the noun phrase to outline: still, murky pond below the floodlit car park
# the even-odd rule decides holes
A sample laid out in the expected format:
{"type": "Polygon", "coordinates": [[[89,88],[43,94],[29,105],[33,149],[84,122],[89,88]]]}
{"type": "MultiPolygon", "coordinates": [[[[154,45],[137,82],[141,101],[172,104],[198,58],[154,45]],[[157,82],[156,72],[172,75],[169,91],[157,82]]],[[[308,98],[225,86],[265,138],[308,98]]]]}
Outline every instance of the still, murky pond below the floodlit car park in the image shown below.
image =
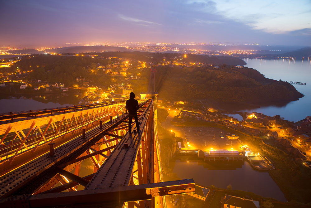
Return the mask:
{"type": "Polygon", "coordinates": [[[233,189],[253,192],[255,194],[286,201],[283,192],[273,181],[268,172],[254,170],[248,162],[241,163],[214,163],[190,159],[172,160],[170,167],[181,179],[193,178],[203,186],[214,185],[227,188],[231,184],[233,189]],[[189,162],[188,162],[189,161],[189,162]]]}

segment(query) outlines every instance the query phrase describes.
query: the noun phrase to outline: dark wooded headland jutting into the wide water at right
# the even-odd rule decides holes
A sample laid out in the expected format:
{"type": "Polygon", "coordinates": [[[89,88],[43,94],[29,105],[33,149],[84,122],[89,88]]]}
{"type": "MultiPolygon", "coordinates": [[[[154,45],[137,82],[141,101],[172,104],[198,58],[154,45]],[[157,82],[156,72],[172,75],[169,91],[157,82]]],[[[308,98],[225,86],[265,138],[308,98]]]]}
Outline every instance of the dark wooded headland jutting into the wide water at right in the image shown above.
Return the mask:
{"type": "Polygon", "coordinates": [[[216,102],[269,103],[303,97],[288,82],[267,79],[257,70],[221,68],[159,67],[156,90],[165,99],[210,99],[216,102]]]}

